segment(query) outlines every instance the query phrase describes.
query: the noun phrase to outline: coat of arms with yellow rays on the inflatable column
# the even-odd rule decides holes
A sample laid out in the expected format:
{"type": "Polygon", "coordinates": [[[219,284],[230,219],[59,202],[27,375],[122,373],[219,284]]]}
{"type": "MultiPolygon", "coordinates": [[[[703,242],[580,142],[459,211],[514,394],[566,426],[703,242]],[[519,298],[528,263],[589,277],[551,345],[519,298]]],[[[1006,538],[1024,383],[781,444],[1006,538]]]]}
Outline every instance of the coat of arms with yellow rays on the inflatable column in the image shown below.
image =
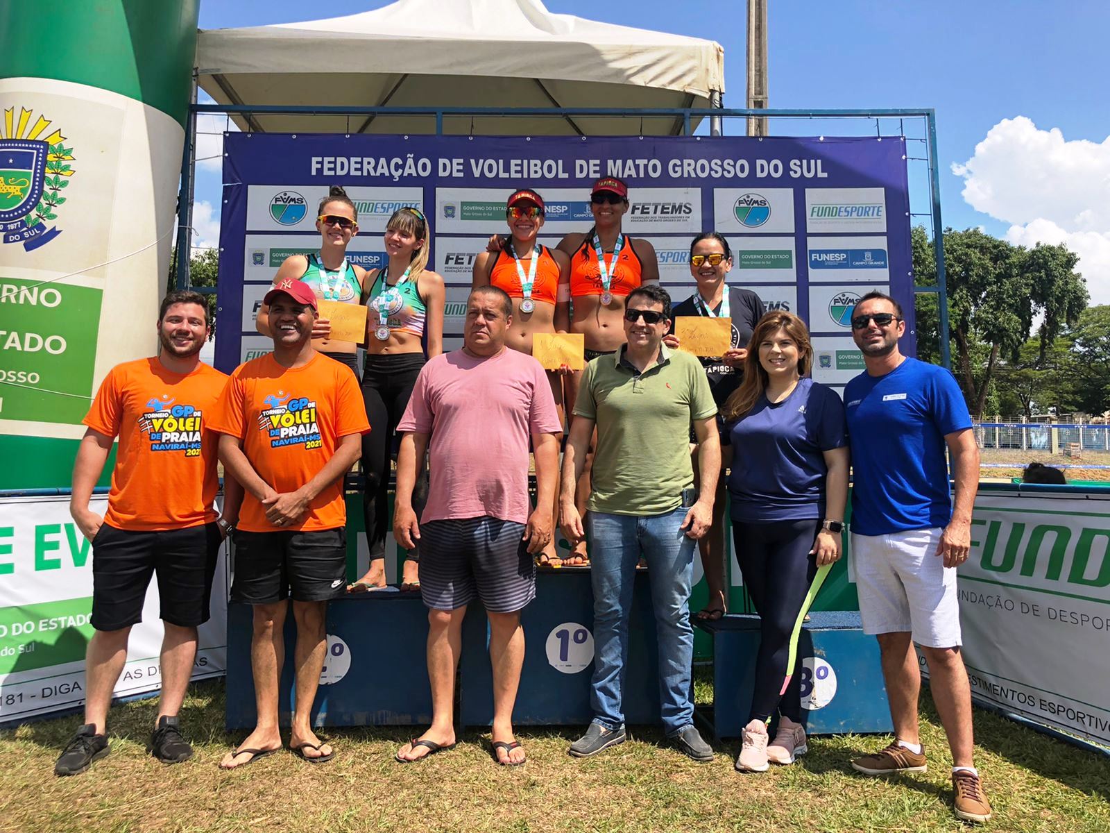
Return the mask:
{"type": "Polygon", "coordinates": [[[22,243],[33,251],[61,234],[49,225],[65,202],[62,190],[73,175],[73,149],[61,130],[48,133],[49,119],[27,108],[3,111],[0,124],[0,233],[4,243],[22,243]]]}

